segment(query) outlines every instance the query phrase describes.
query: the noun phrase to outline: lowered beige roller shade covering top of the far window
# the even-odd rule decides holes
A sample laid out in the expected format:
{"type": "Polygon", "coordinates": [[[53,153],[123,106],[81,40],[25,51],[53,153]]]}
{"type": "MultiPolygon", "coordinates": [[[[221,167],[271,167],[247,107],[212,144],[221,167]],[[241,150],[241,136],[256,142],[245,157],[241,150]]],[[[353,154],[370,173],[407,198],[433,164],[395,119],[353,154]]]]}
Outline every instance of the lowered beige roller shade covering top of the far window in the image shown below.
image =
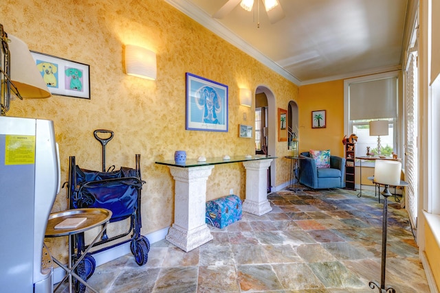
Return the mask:
{"type": "Polygon", "coordinates": [[[397,78],[356,82],[349,86],[350,120],[397,117],[397,78]]]}

